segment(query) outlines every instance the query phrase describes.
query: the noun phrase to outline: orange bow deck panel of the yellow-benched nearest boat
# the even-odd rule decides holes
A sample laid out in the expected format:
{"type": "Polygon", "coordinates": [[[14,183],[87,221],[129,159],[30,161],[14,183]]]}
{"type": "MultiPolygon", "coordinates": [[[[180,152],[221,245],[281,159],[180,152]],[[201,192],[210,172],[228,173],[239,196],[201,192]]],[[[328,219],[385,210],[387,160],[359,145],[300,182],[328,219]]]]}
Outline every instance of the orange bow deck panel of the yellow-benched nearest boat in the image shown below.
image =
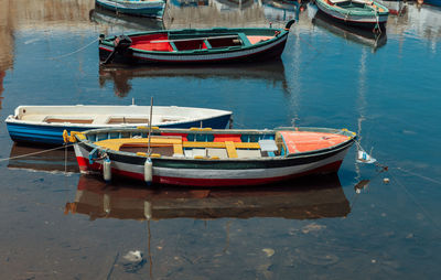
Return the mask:
{"type": "Polygon", "coordinates": [[[280,131],[280,133],[289,153],[325,149],[347,141],[347,136],[324,132],[280,131]]]}

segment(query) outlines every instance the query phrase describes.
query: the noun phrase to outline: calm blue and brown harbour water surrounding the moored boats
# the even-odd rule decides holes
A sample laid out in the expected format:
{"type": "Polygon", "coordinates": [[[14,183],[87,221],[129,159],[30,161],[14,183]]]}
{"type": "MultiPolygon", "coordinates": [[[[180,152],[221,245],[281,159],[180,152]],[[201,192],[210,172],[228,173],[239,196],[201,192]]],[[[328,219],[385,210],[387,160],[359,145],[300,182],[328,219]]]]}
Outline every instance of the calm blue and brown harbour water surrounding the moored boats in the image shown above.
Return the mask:
{"type": "MultiPolygon", "coordinates": [[[[347,128],[389,170],[355,163],[353,148],[337,176],[182,191],[106,186],[77,173],[72,151],[67,160],[63,150],[2,160],[0,278],[438,277],[441,9],[409,3],[376,41],[315,17],[313,4],[299,13],[279,6],[171,1],[163,22],[127,22],[97,12],[92,0],[1,0],[1,119],[19,105],[148,105],[153,96],[155,105],[233,110],[236,128],[347,128]],[[281,62],[98,66],[99,33],[291,18],[299,20],[281,62]],[[369,182],[356,192],[362,180],[369,182]]],[[[1,159],[37,151],[14,146],[4,122],[0,143],[1,159]]]]}

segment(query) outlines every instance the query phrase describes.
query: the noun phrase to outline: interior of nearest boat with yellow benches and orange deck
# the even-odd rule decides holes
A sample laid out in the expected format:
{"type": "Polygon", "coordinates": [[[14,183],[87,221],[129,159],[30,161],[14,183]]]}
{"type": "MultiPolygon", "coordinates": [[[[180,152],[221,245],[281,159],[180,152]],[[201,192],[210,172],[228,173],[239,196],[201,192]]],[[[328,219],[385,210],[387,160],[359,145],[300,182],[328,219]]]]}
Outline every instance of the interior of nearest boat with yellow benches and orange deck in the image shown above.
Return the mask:
{"type": "Polygon", "coordinates": [[[331,148],[348,140],[347,136],[311,131],[271,131],[249,133],[194,132],[103,132],[88,134],[88,140],[104,149],[147,157],[150,141],[152,158],[256,159],[288,155],[331,148]]]}

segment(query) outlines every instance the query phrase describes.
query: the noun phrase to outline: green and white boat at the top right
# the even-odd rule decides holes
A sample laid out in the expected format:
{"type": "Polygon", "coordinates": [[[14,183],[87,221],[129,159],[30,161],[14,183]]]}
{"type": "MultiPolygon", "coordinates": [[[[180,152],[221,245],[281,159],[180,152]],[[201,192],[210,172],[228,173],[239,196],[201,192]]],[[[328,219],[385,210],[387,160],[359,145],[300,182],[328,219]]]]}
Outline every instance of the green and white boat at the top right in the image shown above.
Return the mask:
{"type": "Polygon", "coordinates": [[[385,28],[389,10],[372,0],[315,0],[320,11],[347,25],[378,31],[385,28]]]}

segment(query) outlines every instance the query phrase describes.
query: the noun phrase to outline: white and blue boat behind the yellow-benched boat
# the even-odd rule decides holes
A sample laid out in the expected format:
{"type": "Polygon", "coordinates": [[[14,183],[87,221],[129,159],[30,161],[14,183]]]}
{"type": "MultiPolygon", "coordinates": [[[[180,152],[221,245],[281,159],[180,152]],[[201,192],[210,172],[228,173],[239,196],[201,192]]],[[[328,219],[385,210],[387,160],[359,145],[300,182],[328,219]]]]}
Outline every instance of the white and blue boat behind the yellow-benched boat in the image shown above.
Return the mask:
{"type": "MultiPolygon", "coordinates": [[[[225,128],[232,111],[153,106],[152,126],[225,128]]],[[[63,131],[149,126],[150,106],[19,106],[6,119],[15,142],[63,144],[63,131]]]]}

